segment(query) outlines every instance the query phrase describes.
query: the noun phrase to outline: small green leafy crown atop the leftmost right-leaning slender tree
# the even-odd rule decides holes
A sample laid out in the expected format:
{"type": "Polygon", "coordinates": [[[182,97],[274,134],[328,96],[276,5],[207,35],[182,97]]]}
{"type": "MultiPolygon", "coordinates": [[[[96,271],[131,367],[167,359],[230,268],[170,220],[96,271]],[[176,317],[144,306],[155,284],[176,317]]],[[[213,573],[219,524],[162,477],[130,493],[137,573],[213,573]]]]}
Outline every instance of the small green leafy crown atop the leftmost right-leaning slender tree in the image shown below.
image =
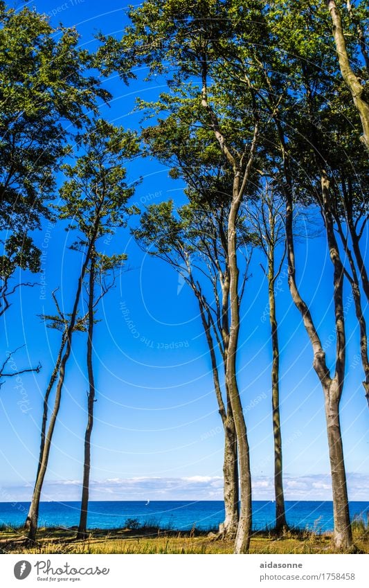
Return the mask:
{"type": "Polygon", "coordinates": [[[95,273],[101,281],[127,259],[125,253],[102,253],[98,241],[125,227],[129,216],[138,212],[136,206],[128,204],[137,182],[127,184],[124,165],[136,157],[139,144],[136,133],[99,118],[78,136],[76,148],[79,154],[73,164],[62,166],[66,177],[60,188],[62,204],[54,210],[61,220],[69,221],[66,231],[78,233],[71,248],[91,249],[95,273]]]}

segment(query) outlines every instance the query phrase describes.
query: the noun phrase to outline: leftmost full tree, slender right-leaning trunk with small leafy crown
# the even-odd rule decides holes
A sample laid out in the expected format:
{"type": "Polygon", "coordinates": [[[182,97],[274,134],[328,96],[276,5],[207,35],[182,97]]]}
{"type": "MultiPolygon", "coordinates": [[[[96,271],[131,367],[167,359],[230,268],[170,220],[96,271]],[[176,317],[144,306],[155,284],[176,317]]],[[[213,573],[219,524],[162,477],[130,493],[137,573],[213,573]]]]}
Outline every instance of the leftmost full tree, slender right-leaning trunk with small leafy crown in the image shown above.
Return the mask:
{"type": "MultiPolygon", "coordinates": [[[[57,213],[60,220],[71,220],[67,230],[78,229],[82,233],[82,236],[71,247],[82,252],[83,262],[75,289],[73,310],[66,329],[66,344],[60,360],[53,412],[46,431],[41,465],[38,467],[28,515],[28,540],[30,542],[34,542],[36,537],[39,500],[57,413],[60,409],[66,364],[71,354],[72,337],[78,320],[78,305],[80,304],[84,278],[94,255],[96,241],[101,235],[111,233],[114,226],[125,224],[123,213],[128,211],[126,202],[134,193],[134,187],[127,186],[126,170],[123,168],[123,163],[138,152],[134,133],[125,132],[120,127],[114,127],[105,121],[98,120],[91,123],[86,132],[80,135],[78,144],[80,148],[84,149],[84,154],[78,157],[75,166],[69,164],[63,166],[64,174],[69,179],[60,188],[63,204],[57,206],[57,213]]],[[[88,439],[86,445],[88,454],[88,439]]],[[[88,487],[84,487],[84,490],[88,491],[88,487]]]]}

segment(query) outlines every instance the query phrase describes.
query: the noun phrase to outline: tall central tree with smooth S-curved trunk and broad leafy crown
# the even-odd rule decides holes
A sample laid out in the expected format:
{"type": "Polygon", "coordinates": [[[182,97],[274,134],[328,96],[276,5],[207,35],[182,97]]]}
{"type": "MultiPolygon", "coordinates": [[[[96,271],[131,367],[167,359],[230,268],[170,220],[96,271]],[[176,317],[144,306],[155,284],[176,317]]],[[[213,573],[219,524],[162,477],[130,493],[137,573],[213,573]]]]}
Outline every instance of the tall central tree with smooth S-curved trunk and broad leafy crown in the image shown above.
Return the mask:
{"type": "Polygon", "coordinates": [[[168,105],[192,116],[192,121],[213,133],[219,155],[232,174],[232,200],[227,223],[229,263],[230,337],[227,387],[237,432],[240,466],[240,521],[235,552],[249,549],[251,535],[251,472],[249,443],[237,387],[236,357],[240,332],[237,217],[253,172],[260,134],[260,116],[249,69],[250,38],[260,51],[265,46],[262,3],[204,0],[200,4],[178,0],[145,1],[129,11],[132,25],[120,41],[100,37],[99,55],[106,71],[132,78],[132,66],[144,64],[153,74],[166,75],[170,94],[162,94],[158,107],[168,105]],[[237,78],[240,88],[235,88],[237,78]],[[176,105],[177,102],[177,105],[176,105]]]}

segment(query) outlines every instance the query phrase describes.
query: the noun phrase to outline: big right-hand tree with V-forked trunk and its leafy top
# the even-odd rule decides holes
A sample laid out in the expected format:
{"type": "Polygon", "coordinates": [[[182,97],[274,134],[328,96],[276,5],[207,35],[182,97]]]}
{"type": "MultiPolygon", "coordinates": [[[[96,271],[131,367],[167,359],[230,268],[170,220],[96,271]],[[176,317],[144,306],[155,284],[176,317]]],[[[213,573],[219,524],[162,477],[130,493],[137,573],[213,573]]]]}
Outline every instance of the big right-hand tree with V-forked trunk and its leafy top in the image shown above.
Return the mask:
{"type": "MultiPolygon", "coordinates": [[[[288,3],[289,4],[289,3],[288,3]]],[[[278,6],[278,3],[276,3],[278,6]]],[[[313,5],[312,5],[313,6],[313,5]]],[[[330,54],[322,42],[321,28],[316,26],[315,6],[307,10],[297,10],[289,4],[287,12],[278,13],[278,19],[272,21],[273,34],[278,36],[278,46],[286,51],[280,59],[278,71],[285,67],[293,70],[289,91],[285,91],[283,110],[276,109],[273,76],[269,77],[269,110],[276,124],[277,139],[280,148],[279,163],[276,163],[276,181],[285,198],[285,226],[287,238],[287,261],[289,271],[289,289],[292,299],[300,312],[301,318],[314,354],[313,366],[324,393],[325,415],[327,420],[327,440],[332,474],[332,494],[334,510],[333,541],[338,549],[352,550],[352,533],[348,509],[348,492],[343,458],[343,443],[339,404],[343,393],[345,376],[345,316],[343,310],[344,266],[341,251],[334,231],[332,206],[332,174],[329,169],[330,148],[337,136],[326,132],[323,121],[332,125],[334,114],[325,96],[336,96],[339,81],[331,75],[322,75],[330,70],[330,54]],[[294,23],[295,35],[287,33],[294,23]],[[310,27],[309,38],[305,35],[307,24],[310,27]],[[306,55],[309,55],[309,61],[306,55]],[[287,60],[288,59],[288,62],[287,60]],[[299,109],[292,108],[298,100],[299,109]],[[326,117],[326,118],[325,118],[326,117]],[[307,302],[301,294],[301,287],[296,279],[296,257],[294,234],[294,206],[296,202],[305,205],[316,204],[321,211],[325,225],[327,247],[332,262],[332,286],[334,305],[334,326],[336,330],[336,357],[333,373],[327,365],[325,350],[318,334],[316,323],[307,302]]],[[[278,7],[279,8],[279,7],[278,7]]],[[[323,21],[324,22],[324,21],[323,21]]],[[[267,75],[267,72],[266,72],[267,75]]],[[[278,84],[278,80],[277,80],[278,84]]],[[[328,127],[332,130],[332,126],[328,127]]],[[[342,154],[342,152],[341,152],[342,154]]],[[[278,162],[278,159],[276,160],[278,162]]]]}

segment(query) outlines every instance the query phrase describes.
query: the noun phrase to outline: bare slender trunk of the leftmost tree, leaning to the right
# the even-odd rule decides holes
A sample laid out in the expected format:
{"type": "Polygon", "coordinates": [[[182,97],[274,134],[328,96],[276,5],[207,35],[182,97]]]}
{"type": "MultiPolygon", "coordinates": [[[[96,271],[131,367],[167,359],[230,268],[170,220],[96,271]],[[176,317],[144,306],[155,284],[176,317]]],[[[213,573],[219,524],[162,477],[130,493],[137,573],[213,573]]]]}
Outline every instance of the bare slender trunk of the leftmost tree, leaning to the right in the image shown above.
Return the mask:
{"type": "MultiPolygon", "coordinates": [[[[97,226],[94,228],[94,232],[91,238],[91,242],[96,238],[96,231],[97,226]]],[[[41,465],[39,467],[37,479],[35,482],[35,488],[33,490],[33,497],[30,504],[30,510],[28,512],[28,541],[33,543],[36,539],[37,533],[37,525],[38,525],[38,518],[39,518],[39,501],[42,492],[42,486],[44,484],[46,469],[48,466],[48,458],[50,456],[50,448],[51,448],[51,440],[53,438],[53,432],[55,428],[55,422],[57,419],[57,414],[60,409],[60,400],[62,398],[62,388],[65,379],[65,369],[66,369],[66,362],[68,362],[69,355],[71,355],[71,346],[72,346],[72,337],[73,337],[73,329],[75,327],[75,321],[77,318],[77,310],[78,310],[78,303],[80,301],[80,294],[82,290],[82,283],[84,279],[84,275],[87,270],[87,265],[89,264],[89,259],[91,255],[91,242],[89,244],[89,248],[87,249],[86,257],[84,258],[84,262],[81,269],[80,278],[78,279],[78,287],[75,293],[75,300],[73,304],[73,311],[71,314],[71,319],[69,321],[69,327],[66,334],[66,350],[62,357],[62,361],[60,362],[60,371],[59,371],[59,380],[57,382],[57,387],[55,391],[55,402],[53,407],[53,412],[51,413],[50,422],[48,425],[48,430],[45,436],[45,444],[44,444],[44,452],[42,454],[41,465]]]]}

